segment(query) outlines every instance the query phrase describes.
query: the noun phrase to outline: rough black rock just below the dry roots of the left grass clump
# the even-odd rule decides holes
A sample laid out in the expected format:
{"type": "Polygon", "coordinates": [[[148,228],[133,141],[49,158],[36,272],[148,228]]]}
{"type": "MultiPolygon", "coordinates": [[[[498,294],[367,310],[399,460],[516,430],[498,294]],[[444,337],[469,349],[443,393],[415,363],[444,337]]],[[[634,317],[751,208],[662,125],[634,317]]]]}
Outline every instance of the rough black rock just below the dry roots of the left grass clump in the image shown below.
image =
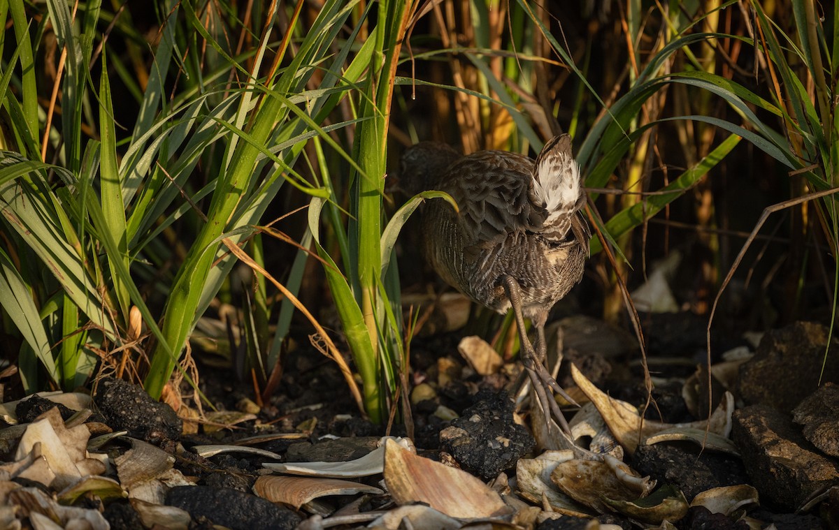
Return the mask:
{"type": "Polygon", "coordinates": [[[180,438],[182,423],[175,411],[137,385],[107,377],[99,382],[93,400],[114,430],[127,430],[128,436],[153,443],[180,438]]]}

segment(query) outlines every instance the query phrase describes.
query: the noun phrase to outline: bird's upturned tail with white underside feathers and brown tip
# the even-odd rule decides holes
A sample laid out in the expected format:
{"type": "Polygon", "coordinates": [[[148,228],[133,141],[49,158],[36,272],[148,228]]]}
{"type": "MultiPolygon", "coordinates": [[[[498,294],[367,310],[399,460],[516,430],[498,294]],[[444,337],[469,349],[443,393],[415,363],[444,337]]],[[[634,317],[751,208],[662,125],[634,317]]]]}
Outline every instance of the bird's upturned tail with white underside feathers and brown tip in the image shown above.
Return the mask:
{"type": "Polygon", "coordinates": [[[563,241],[574,228],[580,237],[577,212],[586,204],[580,166],[571,154],[571,136],[562,134],[550,139],[536,157],[533,170],[534,203],[547,210],[540,233],[554,241],[563,241]]]}

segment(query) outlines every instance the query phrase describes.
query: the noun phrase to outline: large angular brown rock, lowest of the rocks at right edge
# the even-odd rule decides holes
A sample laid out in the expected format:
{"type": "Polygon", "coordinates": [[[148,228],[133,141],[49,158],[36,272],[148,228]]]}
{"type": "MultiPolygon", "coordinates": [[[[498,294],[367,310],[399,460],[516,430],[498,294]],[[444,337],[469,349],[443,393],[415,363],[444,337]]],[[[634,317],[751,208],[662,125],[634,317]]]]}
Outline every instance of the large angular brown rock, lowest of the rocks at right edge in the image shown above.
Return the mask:
{"type": "Polygon", "coordinates": [[[814,491],[839,484],[839,464],[816,452],[792,420],[774,408],[735,411],[732,437],[761,499],[797,508],[814,491]]]}

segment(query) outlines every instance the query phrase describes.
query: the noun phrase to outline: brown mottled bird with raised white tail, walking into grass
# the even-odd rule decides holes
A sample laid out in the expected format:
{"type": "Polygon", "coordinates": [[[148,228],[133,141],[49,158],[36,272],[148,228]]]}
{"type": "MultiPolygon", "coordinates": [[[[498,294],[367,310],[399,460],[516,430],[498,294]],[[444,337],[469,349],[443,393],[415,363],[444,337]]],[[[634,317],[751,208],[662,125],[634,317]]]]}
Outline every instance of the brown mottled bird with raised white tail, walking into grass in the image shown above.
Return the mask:
{"type": "Polygon", "coordinates": [[[550,391],[576,402],[545,368],[545,322],[580,282],[589,255],[586,193],[571,136],[551,138],[535,160],[496,150],[463,156],[446,143],[416,143],[402,155],[399,187],[407,195],[445,191],[455,200],[457,210],[443,200],[422,206],[426,261],[477,304],[500,314],[513,310],[545,421],[550,429],[553,416],[570,433],[550,391]],[[536,329],[534,343],[525,318],[536,329]]]}

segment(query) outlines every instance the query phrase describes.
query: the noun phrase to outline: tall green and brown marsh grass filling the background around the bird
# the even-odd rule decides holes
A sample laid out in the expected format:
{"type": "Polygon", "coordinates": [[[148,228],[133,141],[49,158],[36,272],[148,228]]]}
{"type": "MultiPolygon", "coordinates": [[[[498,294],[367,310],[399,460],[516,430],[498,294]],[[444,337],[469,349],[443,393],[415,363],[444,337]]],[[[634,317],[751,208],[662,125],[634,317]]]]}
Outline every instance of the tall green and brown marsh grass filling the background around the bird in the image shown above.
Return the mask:
{"type": "Polygon", "coordinates": [[[558,132],[600,234],[581,311],[623,323],[618,277],[678,251],[675,297],[705,319],[740,264],[715,327],[832,321],[825,8],[3,1],[0,347],[26,392],[114,372],[166,397],[221,355],[267,399],[289,336],[314,334],[387,421],[417,315],[401,295],[433,282],[422,227],[400,228],[440,200],[399,209],[399,153],[534,154],[558,132]]]}

